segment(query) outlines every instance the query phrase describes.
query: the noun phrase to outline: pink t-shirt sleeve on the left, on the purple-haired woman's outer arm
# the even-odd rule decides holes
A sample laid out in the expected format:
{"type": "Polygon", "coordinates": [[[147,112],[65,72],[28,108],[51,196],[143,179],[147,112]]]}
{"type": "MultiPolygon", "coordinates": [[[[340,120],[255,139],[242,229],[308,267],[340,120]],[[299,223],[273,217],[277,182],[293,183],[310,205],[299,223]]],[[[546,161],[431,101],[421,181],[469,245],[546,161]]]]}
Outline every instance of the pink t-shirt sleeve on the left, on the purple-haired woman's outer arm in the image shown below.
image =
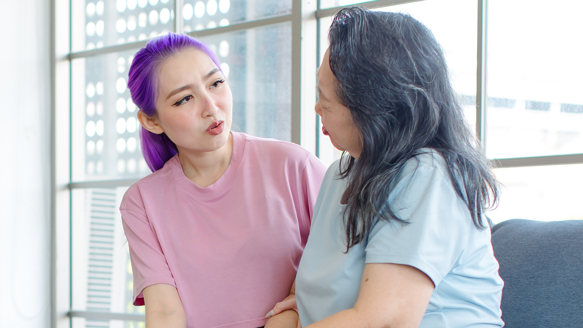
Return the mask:
{"type": "Polygon", "coordinates": [[[155,284],[176,287],[176,283],[147,217],[134,210],[120,211],[134,274],[134,305],[144,305],[144,288],[155,284]]]}

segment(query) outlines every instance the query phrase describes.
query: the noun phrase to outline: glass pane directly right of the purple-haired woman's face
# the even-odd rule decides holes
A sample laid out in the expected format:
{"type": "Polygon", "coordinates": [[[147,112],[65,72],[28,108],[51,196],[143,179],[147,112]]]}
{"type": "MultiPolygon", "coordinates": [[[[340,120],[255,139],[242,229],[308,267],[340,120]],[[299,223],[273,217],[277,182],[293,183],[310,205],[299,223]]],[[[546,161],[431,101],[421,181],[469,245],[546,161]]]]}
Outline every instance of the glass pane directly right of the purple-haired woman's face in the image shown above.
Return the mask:
{"type": "Polygon", "coordinates": [[[233,91],[233,130],[291,139],[291,23],[200,39],[215,50],[233,91]]]}

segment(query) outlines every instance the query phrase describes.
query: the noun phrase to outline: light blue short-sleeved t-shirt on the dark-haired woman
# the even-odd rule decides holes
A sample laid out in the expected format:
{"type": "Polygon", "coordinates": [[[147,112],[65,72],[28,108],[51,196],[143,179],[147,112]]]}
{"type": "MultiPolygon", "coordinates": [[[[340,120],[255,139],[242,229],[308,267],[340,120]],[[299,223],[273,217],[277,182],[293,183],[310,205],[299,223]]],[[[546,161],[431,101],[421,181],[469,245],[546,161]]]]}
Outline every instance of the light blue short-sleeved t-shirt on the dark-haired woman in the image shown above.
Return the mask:
{"type": "MultiPolygon", "coordinates": [[[[422,149],[391,183],[388,204],[408,225],[379,221],[368,240],[346,250],[340,198],[346,179],[333,163],[314,206],[310,237],[296,277],[302,326],[353,308],[366,263],[407,264],[423,271],[436,288],[422,328],[501,327],[503,281],[490,242],[457,196],[445,160],[422,149]]],[[[391,277],[387,277],[390,279],[391,277]]]]}

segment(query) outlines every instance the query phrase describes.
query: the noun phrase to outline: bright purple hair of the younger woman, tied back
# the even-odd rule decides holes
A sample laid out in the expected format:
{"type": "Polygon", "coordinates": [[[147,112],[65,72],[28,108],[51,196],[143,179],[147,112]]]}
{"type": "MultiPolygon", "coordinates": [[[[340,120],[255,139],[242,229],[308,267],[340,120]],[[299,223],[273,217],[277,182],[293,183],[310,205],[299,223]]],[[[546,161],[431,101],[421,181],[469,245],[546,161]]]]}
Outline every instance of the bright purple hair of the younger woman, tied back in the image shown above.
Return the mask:
{"type": "MultiPolygon", "coordinates": [[[[146,43],[134,56],[129,67],[128,89],[132,101],[148,117],[156,117],[156,102],[159,93],[157,69],[160,64],[185,48],[203,51],[220,69],[215,53],[206,44],[186,34],[168,33],[146,43]]],[[[144,127],[140,130],[142,154],[152,172],[178,153],[178,149],[166,133],[155,134],[144,127]]]]}

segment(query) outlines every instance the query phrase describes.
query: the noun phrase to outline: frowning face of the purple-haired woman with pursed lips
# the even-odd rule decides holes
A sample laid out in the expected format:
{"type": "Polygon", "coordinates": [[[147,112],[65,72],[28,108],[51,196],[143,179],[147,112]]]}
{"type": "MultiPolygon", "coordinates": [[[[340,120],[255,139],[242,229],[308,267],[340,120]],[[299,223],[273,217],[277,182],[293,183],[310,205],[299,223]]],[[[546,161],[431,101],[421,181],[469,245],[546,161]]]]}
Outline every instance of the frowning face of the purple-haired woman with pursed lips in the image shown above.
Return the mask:
{"type": "Polygon", "coordinates": [[[224,146],[231,130],[233,95],[215,62],[200,50],[182,50],[160,65],[159,76],[157,115],[149,119],[157,130],[145,127],[166,132],[179,152],[224,146]]]}

